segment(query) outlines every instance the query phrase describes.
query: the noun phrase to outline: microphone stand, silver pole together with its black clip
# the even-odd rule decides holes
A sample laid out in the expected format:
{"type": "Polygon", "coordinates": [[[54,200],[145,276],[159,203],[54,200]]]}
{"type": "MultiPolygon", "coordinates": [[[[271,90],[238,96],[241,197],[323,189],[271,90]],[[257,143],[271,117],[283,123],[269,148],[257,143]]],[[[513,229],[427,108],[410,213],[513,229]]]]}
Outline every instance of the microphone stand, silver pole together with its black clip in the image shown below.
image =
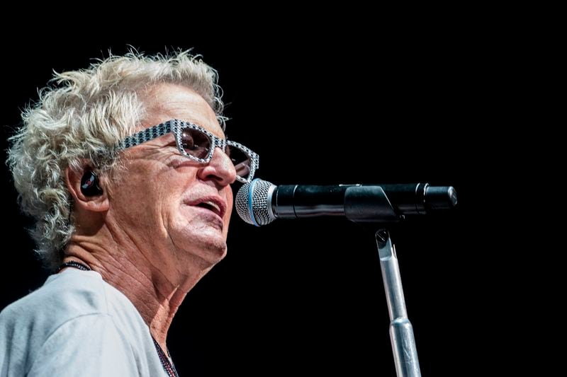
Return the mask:
{"type": "MultiPolygon", "coordinates": [[[[376,223],[376,219],[383,224],[400,221],[380,186],[349,187],[344,194],[344,214],[356,223],[376,223]]],[[[376,244],[390,315],[395,372],[398,377],[421,377],[413,327],[405,310],[398,257],[390,233],[383,228],[376,231],[376,244]]]]}

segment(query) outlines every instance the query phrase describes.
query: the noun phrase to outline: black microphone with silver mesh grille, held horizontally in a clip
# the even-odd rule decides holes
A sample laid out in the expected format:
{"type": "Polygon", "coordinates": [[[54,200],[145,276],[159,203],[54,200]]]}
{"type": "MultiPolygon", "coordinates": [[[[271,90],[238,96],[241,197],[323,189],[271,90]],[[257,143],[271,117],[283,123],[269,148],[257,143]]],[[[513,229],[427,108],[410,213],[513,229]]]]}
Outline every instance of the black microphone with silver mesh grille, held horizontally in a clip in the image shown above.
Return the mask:
{"type": "Polygon", "coordinates": [[[405,216],[429,214],[456,206],[452,186],[427,183],[400,185],[273,185],[256,178],[236,195],[238,216],[262,226],[275,219],[345,216],[350,221],[393,223],[405,216]]]}

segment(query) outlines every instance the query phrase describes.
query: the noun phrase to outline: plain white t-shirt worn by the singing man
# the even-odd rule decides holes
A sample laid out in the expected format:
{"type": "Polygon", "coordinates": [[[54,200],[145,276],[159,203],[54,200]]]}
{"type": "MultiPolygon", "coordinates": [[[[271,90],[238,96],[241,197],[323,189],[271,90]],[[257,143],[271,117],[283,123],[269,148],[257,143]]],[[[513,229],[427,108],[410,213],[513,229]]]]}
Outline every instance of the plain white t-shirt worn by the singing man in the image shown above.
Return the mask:
{"type": "Polygon", "coordinates": [[[167,376],[135,306],[68,268],[0,313],[0,377],[167,376]]]}

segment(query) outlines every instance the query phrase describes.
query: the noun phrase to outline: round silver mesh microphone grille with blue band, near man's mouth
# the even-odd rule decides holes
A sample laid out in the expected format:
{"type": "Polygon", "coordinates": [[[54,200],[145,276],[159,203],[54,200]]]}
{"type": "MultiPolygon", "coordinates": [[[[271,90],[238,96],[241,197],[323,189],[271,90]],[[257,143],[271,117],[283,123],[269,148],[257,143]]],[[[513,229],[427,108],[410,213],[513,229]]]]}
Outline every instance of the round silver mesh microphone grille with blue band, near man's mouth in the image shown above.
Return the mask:
{"type": "Polygon", "coordinates": [[[271,182],[259,178],[242,185],[236,194],[236,211],[240,219],[255,226],[274,221],[270,195],[275,189],[271,182]]]}

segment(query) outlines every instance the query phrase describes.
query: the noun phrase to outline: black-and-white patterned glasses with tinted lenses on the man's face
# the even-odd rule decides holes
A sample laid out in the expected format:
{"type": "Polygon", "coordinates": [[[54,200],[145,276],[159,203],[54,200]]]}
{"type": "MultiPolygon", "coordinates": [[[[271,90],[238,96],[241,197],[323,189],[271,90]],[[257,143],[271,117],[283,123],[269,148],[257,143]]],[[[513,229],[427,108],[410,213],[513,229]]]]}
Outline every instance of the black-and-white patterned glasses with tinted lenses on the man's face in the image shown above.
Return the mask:
{"type": "Polygon", "coordinates": [[[140,145],[173,132],[177,149],[186,158],[198,163],[209,163],[218,147],[232,161],[236,170],[236,179],[247,183],[252,181],[259,166],[259,156],[242,144],[235,141],[220,139],[201,126],[183,120],[168,120],[154,127],[144,129],[126,137],[118,144],[118,150],[140,145]]]}

